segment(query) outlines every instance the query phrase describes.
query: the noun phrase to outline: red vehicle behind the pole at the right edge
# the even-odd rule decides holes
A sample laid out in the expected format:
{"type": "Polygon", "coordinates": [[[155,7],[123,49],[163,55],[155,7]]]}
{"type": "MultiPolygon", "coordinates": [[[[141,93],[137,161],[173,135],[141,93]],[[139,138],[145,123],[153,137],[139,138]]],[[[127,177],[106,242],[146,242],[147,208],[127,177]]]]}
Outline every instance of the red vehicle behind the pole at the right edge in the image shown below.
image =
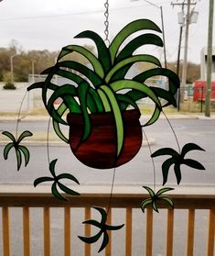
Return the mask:
{"type": "MultiPolygon", "coordinates": [[[[193,101],[205,101],[206,81],[195,81],[193,89],[193,101]]],[[[215,82],[211,82],[211,100],[215,100],[215,82]]]]}

